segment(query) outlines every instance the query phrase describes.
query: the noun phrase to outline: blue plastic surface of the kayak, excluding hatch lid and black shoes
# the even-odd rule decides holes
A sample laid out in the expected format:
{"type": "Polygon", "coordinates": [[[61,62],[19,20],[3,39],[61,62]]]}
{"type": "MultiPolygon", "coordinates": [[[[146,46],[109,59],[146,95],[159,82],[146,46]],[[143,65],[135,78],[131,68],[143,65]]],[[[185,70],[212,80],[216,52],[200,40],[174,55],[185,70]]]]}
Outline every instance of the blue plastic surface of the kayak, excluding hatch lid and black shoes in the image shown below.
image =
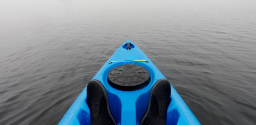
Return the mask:
{"type": "MultiPolygon", "coordinates": [[[[92,79],[100,81],[107,90],[110,110],[117,124],[138,125],[147,109],[151,87],[159,79],[166,78],[133,42],[126,41],[115,51],[92,79]],[[127,50],[128,42],[130,42],[129,50],[127,50]],[[109,63],[111,61],[112,63],[109,63]],[[150,82],[145,87],[133,91],[122,91],[110,86],[107,81],[108,73],[116,66],[124,64],[135,64],[145,67],[150,73],[150,82]]],[[[90,110],[86,103],[86,90],[87,86],[71,105],[59,122],[59,125],[90,125],[90,110]]],[[[170,98],[171,102],[167,109],[166,125],[200,125],[200,122],[172,85],[170,98]]]]}

